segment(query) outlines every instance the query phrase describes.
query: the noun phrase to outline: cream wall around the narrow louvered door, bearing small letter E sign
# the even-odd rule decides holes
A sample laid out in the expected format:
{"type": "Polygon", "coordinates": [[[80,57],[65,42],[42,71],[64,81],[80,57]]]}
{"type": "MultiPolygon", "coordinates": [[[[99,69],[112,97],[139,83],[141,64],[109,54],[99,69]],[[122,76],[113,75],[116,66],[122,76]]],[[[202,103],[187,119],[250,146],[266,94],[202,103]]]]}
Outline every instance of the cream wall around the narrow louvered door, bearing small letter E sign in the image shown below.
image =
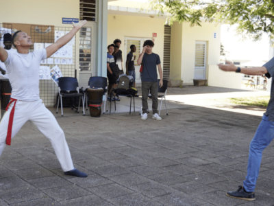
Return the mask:
{"type": "MultiPolygon", "coordinates": [[[[221,25],[214,23],[201,23],[201,27],[190,27],[189,23],[173,23],[171,32],[181,32],[182,37],[172,33],[171,54],[177,55],[176,58],[171,56],[171,73],[179,74],[179,65],[181,67],[180,78],[184,83],[192,83],[195,68],[195,41],[207,42],[207,65],[215,65],[220,60],[221,46],[221,25]],[[217,38],[213,38],[214,32],[217,38]],[[182,52],[179,52],[179,43],[182,42],[182,52]],[[181,58],[178,55],[181,55],[181,58]]],[[[171,76],[172,77],[172,76],[171,76]]],[[[206,72],[208,78],[208,66],[206,72]]]]}

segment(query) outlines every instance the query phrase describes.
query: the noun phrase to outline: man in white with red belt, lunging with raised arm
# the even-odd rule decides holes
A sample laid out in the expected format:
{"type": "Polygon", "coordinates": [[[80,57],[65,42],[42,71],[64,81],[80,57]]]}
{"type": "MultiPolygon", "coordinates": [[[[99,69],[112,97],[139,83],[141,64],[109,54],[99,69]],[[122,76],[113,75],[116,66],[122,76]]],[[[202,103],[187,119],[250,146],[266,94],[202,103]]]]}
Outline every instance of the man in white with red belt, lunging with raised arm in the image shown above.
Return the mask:
{"type": "Polygon", "coordinates": [[[12,44],[17,49],[16,53],[0,47],[0,60],[5,63],[12,85],[10,103],[0,123],[0,155],[5,144],[10,145],[11,138],[29,120],[51,141],[64,174],[78,177],[87,176],[84,172],[74,168],[64,132],[39,98],[39,66],[41,60],[49,58],[60,47],[71,41],[71,38],[85,23],[86,20],[73,23],[73,30],[69,34],[46,49],[38,49],[29,53],[29,47],[33,45],[32,39],[21,31],[15,32],[12,36],[12,44]]]}

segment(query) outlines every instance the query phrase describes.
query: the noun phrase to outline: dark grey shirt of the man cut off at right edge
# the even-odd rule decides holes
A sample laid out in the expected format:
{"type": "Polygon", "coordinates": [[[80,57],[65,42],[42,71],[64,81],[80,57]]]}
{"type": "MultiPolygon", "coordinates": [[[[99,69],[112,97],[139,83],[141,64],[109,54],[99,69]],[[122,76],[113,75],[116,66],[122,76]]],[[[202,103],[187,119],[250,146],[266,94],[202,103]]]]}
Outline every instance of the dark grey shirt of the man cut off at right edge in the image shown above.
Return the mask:
{"type": "Polygon", "coordinates": [[[269,62],[266,62],[263,67],[266,67],[267,71],[269,71],[269,73],[266,73],[266,77],[272,78],[269,106],[267,106],[264,115],[269,116],[269,121],[274,122],[274,57],[269,62]]]}

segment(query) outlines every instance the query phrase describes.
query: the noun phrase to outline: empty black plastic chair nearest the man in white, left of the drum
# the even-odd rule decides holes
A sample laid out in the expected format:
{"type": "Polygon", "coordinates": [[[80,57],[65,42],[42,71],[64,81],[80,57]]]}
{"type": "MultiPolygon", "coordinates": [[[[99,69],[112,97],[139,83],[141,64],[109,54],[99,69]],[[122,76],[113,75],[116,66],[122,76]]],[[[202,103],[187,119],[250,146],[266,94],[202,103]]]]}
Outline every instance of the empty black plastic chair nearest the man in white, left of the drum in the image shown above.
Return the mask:
{"type": "Polygon", "coordinates": [[[58,113],[58,108],[59,108],[59,100],[61,100],[61,111],[62,111],[62,116],[63,116],[63,104],[62,104],[62,98],[79,98],[79,105],[77,109],[77,113],[79,113],[79,108],[80,108],[80,102],[82,100],[83,103],[83,113],[85,115],[85,109],[84,109],[84,94],[79,93],[79,86],[76,78],[72,77],[62,77],[58,78],[58,93],[59,93],[59,98],[58,98],[58,103],[57,103],[57,111],[58,113]],[[64,91],[76,91],[75,93],[64,93],[64,91]]]}

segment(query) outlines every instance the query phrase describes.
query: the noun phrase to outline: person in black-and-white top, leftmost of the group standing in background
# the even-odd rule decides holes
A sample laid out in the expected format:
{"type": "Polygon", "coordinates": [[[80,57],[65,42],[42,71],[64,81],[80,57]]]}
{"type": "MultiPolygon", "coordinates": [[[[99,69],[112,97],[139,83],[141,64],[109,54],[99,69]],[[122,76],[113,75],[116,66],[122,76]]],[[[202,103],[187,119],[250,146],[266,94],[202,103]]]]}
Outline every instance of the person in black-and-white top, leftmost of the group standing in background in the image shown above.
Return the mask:
{"type": "MultiPolygon", "coordinates": [[[[107,56],[107,76],[108,76],[108,95],[110,100],[110,92],[113,88],[117,87],[117,77],[115,73],[112,71],[112,68],[116,67],[116,61],[114,56],[112,56],[114,52],[114,45],[108,45],[108,56],[107,56]]],[[[114,98],[112,98],[112,101],[114,101],[114,98]]],[[[116,98],[116,101],[120,101],[118,98],[116,98]]]]}

